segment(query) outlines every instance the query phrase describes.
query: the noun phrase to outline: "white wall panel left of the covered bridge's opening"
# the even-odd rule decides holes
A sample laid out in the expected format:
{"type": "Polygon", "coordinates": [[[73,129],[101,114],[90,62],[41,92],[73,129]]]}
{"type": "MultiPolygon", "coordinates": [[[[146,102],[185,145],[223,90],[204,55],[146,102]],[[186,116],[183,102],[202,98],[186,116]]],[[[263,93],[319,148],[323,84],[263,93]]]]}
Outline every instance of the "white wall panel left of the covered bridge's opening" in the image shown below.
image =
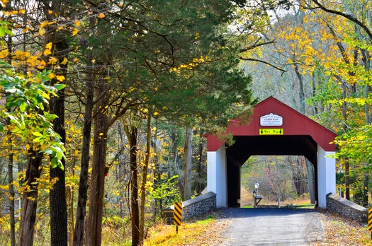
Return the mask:
{"type": "Polygon", "coordinates": [[[207,153],[207,191],[217,194],[216,205],[227,206],[227,161],[225,146],[207,153]]]}

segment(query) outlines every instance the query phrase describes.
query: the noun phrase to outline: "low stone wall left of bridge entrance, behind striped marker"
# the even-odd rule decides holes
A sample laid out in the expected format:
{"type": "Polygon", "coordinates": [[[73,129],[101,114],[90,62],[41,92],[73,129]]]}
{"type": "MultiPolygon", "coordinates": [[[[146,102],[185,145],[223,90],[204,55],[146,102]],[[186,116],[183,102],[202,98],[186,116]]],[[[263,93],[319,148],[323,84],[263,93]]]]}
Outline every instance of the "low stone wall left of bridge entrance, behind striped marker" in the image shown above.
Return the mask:
{"type": "MultiPolygon", "coordinates": [[[[216,197],[217,195],[215,193],[208,192],[202,196],[182,202],[182,221],[215,209],[216,197]]],[[[169,206],[163,210],[163,216],[169,224],[173,223],[173,212],[174,206],[169,206]]]]}

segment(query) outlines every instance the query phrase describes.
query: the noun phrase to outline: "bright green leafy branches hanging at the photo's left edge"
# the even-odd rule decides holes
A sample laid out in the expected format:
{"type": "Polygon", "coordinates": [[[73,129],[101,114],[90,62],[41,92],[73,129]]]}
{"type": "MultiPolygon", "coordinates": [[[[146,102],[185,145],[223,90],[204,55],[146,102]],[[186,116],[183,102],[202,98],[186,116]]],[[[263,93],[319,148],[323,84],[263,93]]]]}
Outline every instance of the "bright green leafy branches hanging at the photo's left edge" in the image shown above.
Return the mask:
{"type": "Polygon", "coordinates": [[[50,156],[52,168],[63,168],[64,144],[52,125],[57,116],[46,112],[45,107],[64,85],[49,86],[50,71],[39,72],[31,78],[17,74],[4,61],[0,61],[0,66],[6,68],[0,74],[0,89],[6,95],[6,102],[0,106],[0,118],[9,119],[9,124],[0,124],[0,131],[11,131],[29,148],[50,156]]]}

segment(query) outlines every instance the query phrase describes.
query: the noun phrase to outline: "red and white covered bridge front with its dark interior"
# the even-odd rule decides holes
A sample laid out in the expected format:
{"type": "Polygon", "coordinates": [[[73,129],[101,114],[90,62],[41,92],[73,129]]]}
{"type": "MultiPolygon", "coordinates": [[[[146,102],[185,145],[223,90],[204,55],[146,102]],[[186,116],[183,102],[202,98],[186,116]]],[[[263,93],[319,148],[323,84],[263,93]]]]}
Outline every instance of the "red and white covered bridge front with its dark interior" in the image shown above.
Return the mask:
{"type": "Polygon", "coordinates": [[[250,156],[305,156],[314,166],[318,206],[325,208],[326,195],[336,193],[336,161],[327,156],[337,134],[276,98],[259,102],[249,124],[232,119],[227,132],[232,146],[207,134],[207,191],[217,194],[217,206],[239,206],[240,168],[250,156]]]}

